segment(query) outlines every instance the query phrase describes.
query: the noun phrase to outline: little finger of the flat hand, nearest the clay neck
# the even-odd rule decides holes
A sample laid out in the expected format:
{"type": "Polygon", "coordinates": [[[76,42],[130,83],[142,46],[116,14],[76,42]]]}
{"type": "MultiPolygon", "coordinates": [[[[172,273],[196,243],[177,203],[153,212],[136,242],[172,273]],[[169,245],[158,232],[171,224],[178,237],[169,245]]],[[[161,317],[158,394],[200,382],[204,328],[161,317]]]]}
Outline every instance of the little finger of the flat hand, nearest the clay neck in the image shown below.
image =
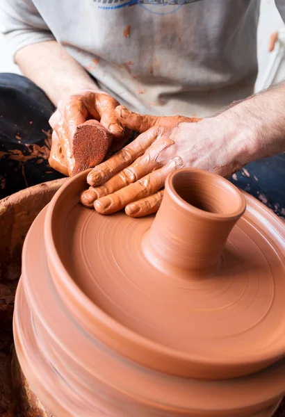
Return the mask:
{"type": "Polygon", "coordinates": [[[161,206],[163,193],[164,190],[161,190],[150,197],[142,198],[137,202],[128,204],[124,211],[133,218],[144,217],[145,215],[156,213],[161,206]]]}

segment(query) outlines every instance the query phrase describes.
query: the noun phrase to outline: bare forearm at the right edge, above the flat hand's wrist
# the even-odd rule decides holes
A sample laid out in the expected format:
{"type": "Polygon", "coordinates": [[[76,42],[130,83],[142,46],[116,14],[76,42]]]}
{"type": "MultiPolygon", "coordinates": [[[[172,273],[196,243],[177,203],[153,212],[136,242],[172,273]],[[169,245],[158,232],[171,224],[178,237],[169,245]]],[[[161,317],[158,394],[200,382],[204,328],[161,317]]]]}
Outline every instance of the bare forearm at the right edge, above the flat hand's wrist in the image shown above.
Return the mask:
{"type": "Polygon", "coordinates": [[[285,152],[285,83],[232,106],[218,117],[236,124],[242,163],[285,152]]]}

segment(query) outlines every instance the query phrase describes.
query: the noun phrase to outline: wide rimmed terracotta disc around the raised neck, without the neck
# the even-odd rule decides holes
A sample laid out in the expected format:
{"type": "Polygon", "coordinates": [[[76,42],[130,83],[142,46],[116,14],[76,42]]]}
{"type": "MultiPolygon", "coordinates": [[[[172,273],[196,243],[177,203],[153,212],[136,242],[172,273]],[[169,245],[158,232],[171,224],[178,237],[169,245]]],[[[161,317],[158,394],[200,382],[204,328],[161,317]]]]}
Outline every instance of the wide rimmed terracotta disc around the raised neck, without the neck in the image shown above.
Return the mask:
{"type": "Polygon", "coordinates": [[[271,211],[245,194],[218,271],[176,276],[145,255],[154,216],[84,208],[85,178],[59,190],[45,222],[51,275],[84,326],[108,345],[117,339],[132,359],[183,376],[246,375],[284,356],[284,224],[271,211]]]}

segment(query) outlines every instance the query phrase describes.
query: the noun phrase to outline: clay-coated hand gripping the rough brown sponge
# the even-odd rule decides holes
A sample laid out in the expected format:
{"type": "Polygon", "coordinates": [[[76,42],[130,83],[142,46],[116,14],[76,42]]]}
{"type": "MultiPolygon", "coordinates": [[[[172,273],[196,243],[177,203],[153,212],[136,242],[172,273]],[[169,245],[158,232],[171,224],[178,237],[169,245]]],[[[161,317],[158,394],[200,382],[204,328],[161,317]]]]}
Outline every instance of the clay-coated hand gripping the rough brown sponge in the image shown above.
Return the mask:
{"type": "Polygon", "coordinates": [[[120,149],[129,138],[129,131],[122,126],[115,114],[118,105],[113,97],[97,90],[83,90],[59,101],[56,112],[49,120],[54,129],[49,158],[51,167],[63,174],[72,175],[75,163],[72,152],[74,134],[76,128],[90,118],[100,122],[106,135],[111,136],[111,142],[113,135],[112,148],[120,149]]]}

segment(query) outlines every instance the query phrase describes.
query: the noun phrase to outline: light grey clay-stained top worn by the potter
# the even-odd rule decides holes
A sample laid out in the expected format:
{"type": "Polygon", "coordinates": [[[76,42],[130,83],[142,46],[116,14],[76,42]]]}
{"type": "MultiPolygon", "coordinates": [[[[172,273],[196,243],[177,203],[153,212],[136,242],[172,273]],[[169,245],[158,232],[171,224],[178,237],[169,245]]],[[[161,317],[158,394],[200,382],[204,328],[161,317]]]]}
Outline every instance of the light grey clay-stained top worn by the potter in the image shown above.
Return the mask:
{"type": "Polygon", "coordinates": [[[205,117],[254,89],[259,0],[1,0],[0,12],[13,54],[56,39],[140,113],[205,117]]]}

